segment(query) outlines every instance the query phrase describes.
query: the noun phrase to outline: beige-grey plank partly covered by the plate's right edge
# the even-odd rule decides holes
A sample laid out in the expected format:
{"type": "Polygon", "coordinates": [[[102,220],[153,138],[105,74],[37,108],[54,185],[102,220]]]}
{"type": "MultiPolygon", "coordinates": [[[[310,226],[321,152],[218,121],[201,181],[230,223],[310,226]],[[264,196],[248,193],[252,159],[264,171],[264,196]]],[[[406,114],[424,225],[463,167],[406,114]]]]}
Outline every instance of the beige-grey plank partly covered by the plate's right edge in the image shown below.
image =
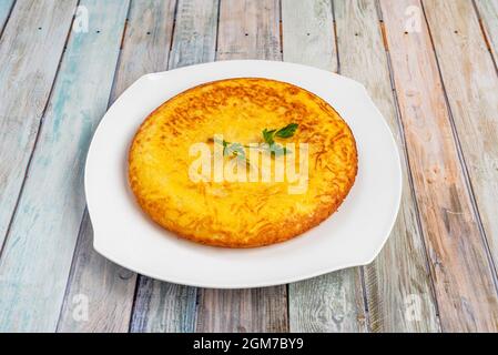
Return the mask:
{"type": "Polygon", "coordinates": [[[341,73],[366,87],[389,124],[402,158],[404,190],[397,222],[380,254],[364,267],[369,328],[372,332],[438,332],[437,306],[417,223],[376,2],[336,0],[334,13],[341,73]]]}

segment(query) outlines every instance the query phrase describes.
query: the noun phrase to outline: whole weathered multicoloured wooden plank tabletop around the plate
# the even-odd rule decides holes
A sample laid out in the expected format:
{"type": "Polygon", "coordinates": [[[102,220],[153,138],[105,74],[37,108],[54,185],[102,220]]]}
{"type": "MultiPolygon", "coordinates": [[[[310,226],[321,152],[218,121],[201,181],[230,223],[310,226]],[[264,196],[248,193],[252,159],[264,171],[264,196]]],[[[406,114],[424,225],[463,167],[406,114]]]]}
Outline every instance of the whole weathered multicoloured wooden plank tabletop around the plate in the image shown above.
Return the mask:
{"type": "Polygon", "coordinates": [[[498,331],[498,0],[0,0],[0,332],[498,331]],[[83,165],[106,108],[227,59],[366,85],[404,170],[370,265],[220,291],[93,251],[83,165]]]}

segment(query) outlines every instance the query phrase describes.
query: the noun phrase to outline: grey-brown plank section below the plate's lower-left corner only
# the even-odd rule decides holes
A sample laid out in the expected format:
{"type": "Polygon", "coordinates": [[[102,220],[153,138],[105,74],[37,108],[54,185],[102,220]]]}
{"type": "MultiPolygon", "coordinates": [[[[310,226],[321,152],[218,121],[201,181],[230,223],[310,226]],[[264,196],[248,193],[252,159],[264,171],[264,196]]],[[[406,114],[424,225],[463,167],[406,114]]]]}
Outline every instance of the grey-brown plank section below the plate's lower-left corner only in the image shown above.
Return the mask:
{"type": "Polygon", "coordinates": [[[92,235],[85,211],[58,332],[128,332],[136,274],[96,254],[92,235]]]}

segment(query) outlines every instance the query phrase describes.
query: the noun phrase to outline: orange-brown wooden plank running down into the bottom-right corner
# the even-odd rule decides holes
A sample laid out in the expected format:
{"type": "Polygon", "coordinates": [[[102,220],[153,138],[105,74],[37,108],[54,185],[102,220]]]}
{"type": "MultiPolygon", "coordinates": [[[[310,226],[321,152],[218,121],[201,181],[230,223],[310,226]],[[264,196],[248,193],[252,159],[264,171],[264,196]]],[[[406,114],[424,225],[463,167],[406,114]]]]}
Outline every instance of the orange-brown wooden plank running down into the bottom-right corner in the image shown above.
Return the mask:
{"type": "Polygon", "coordinates": [[[380,0],[443,331],[497,331],[498,300],[417,0],[380,0]]]}

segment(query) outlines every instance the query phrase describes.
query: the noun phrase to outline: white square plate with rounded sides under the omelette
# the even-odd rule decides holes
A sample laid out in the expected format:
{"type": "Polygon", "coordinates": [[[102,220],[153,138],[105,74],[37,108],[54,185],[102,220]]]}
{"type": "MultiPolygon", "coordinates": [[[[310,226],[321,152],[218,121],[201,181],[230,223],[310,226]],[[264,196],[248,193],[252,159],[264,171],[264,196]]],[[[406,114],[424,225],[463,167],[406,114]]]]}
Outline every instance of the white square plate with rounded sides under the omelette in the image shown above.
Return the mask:
{"type": "Polygon", "coordinates": [[[102,119],[84,182],[99,253],[154,278],[217,288],[284,284],[370,263],[390,233],[402,195],[396,143],[362,84],[319,69],[257,60],[200,64],[139,79],[102,119]],[[289,82],[333,105],[356,139],[356,182],[339,211],[285,243],[232,250],[179,239],[135,204],[126,181],[129,144],[149,113],[173,95],[201,83],[243,77],[289,82]]]}

